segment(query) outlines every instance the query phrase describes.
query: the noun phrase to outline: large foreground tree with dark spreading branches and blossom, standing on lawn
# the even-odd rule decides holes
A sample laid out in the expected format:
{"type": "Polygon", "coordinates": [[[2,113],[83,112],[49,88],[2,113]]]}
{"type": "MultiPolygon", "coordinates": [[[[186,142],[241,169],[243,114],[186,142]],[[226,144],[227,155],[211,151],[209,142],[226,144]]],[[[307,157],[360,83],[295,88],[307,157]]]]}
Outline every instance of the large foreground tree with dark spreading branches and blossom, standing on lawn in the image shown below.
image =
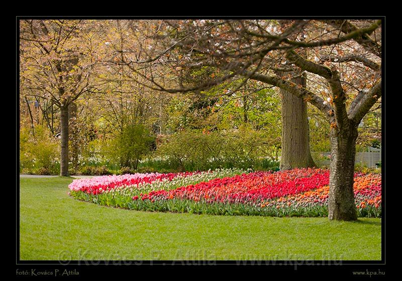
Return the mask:
{"type": "Polygon", "coordinates": [[[140,58],[122,56],[122,61],[133,72],[148,78],[157,90],[200,91],[240,76],[245,81],[253,79],[276,86],[313,104],[325,114],[331,128],[329,218],[355,220],[353,173],[357,128],[381,97],[378,57],[381,21],[342,23],[296,20],[279,26],[272,21],[161,22],[150,29],[162,30],[162,34],[149,40],[160,41],[163,37],[166,43],[151,42],[155,46],[152,54],[144,53],[140,58]],[[176,56],[178,46],[181,53],[176,56]],[[179,77],[181,71],[191,73],[192,69],[204,66],[216,74],[195,86],[183,85],[179,79],[179,87],[168,87],[171,85],[163,84],[161,77],[166,79],[169,73],[147,77],[142,72],[145,63],[152,69],[162,58],[171,60],[175,70],[180,71],[179,77]],[[293,68],[307,74],[306,87],[294,83],[295,77],[275,72],[293,68]]]}

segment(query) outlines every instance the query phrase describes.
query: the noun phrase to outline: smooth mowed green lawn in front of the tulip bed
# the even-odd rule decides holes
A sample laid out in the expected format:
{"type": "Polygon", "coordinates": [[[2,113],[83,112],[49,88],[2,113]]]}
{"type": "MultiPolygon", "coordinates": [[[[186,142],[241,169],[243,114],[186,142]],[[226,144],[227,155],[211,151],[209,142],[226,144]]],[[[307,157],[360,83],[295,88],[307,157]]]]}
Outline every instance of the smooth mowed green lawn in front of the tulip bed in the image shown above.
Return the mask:
{"type": "Polygon", "coordinates": [[[80,202],[72,178],[20,178],[21,260],[378,260],[381,219],[139,212],[80,202]]]}

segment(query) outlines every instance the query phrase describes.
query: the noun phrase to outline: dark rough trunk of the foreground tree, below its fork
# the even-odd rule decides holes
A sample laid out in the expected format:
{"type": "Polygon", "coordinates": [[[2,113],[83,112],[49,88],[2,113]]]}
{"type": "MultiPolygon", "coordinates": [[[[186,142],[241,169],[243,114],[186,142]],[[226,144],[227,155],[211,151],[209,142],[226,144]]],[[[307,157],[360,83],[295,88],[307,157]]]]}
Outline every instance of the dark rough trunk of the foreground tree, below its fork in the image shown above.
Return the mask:
{"type": "Polygon", "coordinates": [[[353,193],[357,127],[349,125],[339,133],[331,129],[330,192],[328,218],[357,220],[353,193]]]}

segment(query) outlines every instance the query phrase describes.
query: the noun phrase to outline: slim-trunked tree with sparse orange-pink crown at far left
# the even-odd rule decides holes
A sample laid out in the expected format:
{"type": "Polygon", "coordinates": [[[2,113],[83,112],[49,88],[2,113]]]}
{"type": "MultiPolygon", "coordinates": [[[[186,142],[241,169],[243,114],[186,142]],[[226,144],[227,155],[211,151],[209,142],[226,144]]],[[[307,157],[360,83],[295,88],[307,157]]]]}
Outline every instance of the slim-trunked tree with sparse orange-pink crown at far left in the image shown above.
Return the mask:
{"type": "Polygon", "coordinates": [[[20,90],[60,109],[60,175],[68,175],[68,108],[91,88],[104,23],[82,20],[20,21],[20,90]]]}

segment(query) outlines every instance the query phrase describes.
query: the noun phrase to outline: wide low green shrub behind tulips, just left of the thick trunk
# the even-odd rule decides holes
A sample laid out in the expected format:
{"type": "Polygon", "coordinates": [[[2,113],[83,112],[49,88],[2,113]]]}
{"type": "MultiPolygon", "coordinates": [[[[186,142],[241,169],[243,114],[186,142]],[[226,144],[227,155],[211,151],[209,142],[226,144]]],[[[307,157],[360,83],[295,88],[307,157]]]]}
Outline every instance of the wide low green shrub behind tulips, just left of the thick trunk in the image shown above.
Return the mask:
{"type": "Polygon", "coordinates": [[[157,153],[181,171],[234,167],[274,169],[276,164],[272,162],[274,147],[268,136],[248,127],[232,131],[181,131],[171,135],[157,153]]]}

